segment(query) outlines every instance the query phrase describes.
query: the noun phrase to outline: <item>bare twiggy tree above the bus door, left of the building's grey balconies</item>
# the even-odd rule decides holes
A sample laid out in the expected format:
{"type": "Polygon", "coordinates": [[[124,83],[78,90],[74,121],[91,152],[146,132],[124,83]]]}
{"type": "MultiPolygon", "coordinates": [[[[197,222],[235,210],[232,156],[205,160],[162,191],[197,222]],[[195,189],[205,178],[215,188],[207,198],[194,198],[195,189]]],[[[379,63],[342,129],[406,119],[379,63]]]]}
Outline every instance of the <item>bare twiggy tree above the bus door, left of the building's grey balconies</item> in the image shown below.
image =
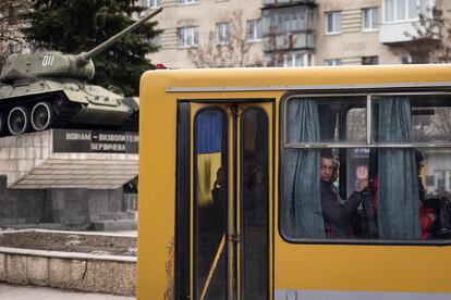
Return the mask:
{"type": "Polygon", "coordinates": [[[196,67],[261,66],[261,58],[252,57],[243,12],[232,13],[229,21],[228,42],[218,43],[214,32],[202,46],[190,48],[187,53],[196,67]]]}

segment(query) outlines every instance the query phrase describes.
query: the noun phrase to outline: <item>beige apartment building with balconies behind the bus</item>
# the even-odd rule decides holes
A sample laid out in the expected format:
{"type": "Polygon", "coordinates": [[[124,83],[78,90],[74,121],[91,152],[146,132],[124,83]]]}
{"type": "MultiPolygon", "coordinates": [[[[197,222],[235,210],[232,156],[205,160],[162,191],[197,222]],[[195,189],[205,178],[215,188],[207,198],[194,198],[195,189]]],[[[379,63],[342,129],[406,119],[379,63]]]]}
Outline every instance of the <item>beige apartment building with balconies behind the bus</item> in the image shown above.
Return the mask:
{"type": "MultiPolygon", "coordinates": [[[[446,0],[142,0],[164,7],[149,58],[173,68],[196,67],[193,49],[228,45],[231,27],[244,28],[248,45],[244,65],[309,66],[410,63],[404,46],[416,35],[418,14],[435,5],[447,12],[446,0]],[[241,18],[234,17],[241,12],[241,18]],[[409,34],[406,34],[409,33],[409,34]],[[192,49],[190,51],[190,49],[192,49]]],[[[234,33],[236,35],[236,33],[234,33]]],[[[223,48],[223,51],[228,49],[223,48]]],[[[230,48],[229,48],[230,50],[230,48]]],[[[204,53],[204,52],[203,52],[204,53]]],[[[228,65],[242,66],[242,65],[228,65]]]]}

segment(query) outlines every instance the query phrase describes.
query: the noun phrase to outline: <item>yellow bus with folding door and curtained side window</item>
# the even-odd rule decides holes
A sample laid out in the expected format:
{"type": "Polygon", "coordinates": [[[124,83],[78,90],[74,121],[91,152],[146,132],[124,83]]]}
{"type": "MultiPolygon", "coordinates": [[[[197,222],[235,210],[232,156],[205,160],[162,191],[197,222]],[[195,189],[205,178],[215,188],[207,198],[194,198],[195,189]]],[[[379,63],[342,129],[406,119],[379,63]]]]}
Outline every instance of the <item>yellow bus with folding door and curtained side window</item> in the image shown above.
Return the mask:
{"type": "Polygon", "coordinates": [[[450,65],[150,71],[139,126],[138,300],[451,299],[450,65]]]}

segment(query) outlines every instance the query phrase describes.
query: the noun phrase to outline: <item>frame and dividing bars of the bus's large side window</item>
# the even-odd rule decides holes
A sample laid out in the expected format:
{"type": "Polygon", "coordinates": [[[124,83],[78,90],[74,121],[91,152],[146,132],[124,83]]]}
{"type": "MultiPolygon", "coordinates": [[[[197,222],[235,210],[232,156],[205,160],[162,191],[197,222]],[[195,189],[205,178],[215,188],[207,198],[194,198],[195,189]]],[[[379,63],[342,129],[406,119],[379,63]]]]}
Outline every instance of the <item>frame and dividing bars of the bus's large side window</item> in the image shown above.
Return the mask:
{"type": "MultiPolygon", "coordinates": [[[[450,87],[387,87],[387,88],[352,88],[343,87],[343,89],[331,90],[294,90],[288,91],[281,96],[279,102],[279,166],[278,166],[278,232],[280,237],[288,243],[293,245],[363,245],[363,246],[420,246],[437,247],[451,246],[450,239],[432,239],[432,240],[398,240],[398,239],[313,239],[313,238],[293,238],[285,234],[282,218],[284,201],[282,199],[283,191],[283,158],[285,149],[352,149],[352,148],[450,148],[451,142],[409,142],[409,143],[388,143],[375,142],[371,140],[373,129],[373,112],[371,98],[380,96],[412,96],[412,95],[450,95],[450,87]],[[345,89],[345,90],[344,90],[345,89]],[[402,91],[400,91],[400,89],[402,91]],[[288,143],[287,142],[287,108],[290,99],[293,98],[327,98],[327,97],[356,97],[365,96],[366,100],[366,118],[367,118],[367,140],[362,142],[308,142],[308,143],[288,143]]],[[[450,100],[451,107],[451,100],[450,100]]]]}

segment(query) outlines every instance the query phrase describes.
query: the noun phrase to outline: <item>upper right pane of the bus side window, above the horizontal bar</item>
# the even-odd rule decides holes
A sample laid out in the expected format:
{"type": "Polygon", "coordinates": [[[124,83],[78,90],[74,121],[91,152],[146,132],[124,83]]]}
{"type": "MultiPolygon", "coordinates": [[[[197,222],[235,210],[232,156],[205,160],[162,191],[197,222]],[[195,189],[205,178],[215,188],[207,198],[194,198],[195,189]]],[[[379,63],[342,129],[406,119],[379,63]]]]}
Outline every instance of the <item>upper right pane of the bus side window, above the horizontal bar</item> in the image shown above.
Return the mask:
{"type": "MultiPolygon", "coordinates": [[[[385,96],[375,97],[373,103],[373,137],[376,142],[390,142],[397,140],[383,140],[378,135],[378,120],[380,118],[381,103],[385,101],[393,101],[399,97],[385,96]]],[[[393,134],[402,135],[403,132],[409,134],[405,142],[451,142],[451,96],[449,95],[409,95],[402,97],[409,102],[407,111],[401,107],[392,107],[390,110],[383,109],[390,113],[393,122],[398,116],[404,114],[407,123],[383,123],[391,126],[393,134]]],[[[398,140],[401,141],[401,140],[398,140]]]]}

